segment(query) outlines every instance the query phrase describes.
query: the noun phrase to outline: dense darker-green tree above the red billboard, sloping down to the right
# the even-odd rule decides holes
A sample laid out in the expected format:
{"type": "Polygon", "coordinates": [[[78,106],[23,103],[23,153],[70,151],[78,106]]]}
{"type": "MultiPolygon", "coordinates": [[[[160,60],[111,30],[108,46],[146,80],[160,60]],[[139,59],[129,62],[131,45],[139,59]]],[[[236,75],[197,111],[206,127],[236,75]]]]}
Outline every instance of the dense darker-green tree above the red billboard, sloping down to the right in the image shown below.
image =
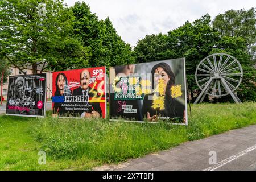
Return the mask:
{"type": "Polygon", "coordinates": [[[75,15],[74,33],[88,52],[91,67],[134,63],[129,44],[123,42],[109,18],[98,20],[85,2],[71,7],[75,15]]]}

